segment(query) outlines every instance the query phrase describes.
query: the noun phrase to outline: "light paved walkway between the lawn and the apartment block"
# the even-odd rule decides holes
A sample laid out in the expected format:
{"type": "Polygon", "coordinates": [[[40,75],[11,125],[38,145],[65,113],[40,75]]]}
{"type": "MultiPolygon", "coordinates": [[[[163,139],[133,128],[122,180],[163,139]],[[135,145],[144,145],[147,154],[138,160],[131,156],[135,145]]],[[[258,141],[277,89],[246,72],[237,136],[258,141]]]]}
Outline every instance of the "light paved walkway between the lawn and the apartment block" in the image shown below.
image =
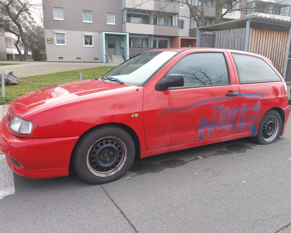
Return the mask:
{"type": "Polygon", "coordinates": [[[86,63],[86,62],[4,62],[0,63],[15,64],[0,66],[0,71],[13,71],[19,77],[31,77],[36,75],[52,74],[62,71],[72,71],[100,66],[118,66],[119,63],[86,63]]]}

